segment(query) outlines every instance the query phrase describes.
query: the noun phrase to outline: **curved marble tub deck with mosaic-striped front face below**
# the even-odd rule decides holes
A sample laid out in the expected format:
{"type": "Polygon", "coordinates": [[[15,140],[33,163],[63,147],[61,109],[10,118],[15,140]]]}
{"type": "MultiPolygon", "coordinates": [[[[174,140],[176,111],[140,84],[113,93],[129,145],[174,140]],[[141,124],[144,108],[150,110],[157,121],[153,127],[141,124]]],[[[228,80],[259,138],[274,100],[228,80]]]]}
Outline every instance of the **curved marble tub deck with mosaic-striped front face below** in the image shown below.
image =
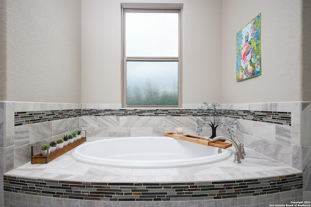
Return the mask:
{"type": "MultiPolygon", "coordinates": [[[[98,140],[96,138],[90,139],[90,140],[98,140]]],[[[230,149],[231,150],[231,149],[230,149]]],[[[213,203],[216,202],[216,200],[222,200],[222,202],[228,202],[227,198],[235,197],[235,199],[243,197],[243,199],[247,199],[248,197],[255,198],[257,196],[262,195],[268,195],[270,193],[273,193],[277,196],[280,196],[279,193],[281,193],[282,188],[284,188],[284,192],[287,191],[286,195],[283,198],[278,197],[276,202],[290,202],[289,200],[302,200],[302,190],[301,190],[301,172],[291,168],[283,163],[280,163],[274,159],[267,158],[263,155],[260,155],[259,153],[245,149],[247,159],[242,160],[241,164],[237,164],[233,162],[233,156],[231,156],[229,159],[223,160],[218,163],[212,163],[212,164],[206,164],[206,165],[200,165],[200,166],[190,166],[190,167],[179,167],[179,168],[164,168],[164,169],[132,169],[132,168],[115,168],[115,167],[106,167],[106,166],[97,166],[97,165],[90,165],[86,163],[82,163],[79,161],[76,161],[72,158],[71,154],[72,151],[69,151],[65,155],[53,160],[52,162],[48,164],[30,164],[26,163],[17,169],[14,169],[8,173],[5,174],[6,180],[6,191],[12,191],[12,192],[18,192],[21,193],[21,195],[25,194],[26,191],[32,191],[33,194],[37,196],[43,196],[43,197],[61,197],[61,194],[64,193],[64,198],[66,196],[71,197],[72,199],[78,198],[78,196],[82,194],[87,194],[87,191],[93,191],[91,188],[92,183],[93,185],[97,186],[106,186],[103,187],[104,189],[111,189],[107,196],[101,197],[97,196],[97,200],[100,199],[101,201],[114,201],[115,199],[120,199],[122,201],[128,201],[133,200],[133,197],[138,198],[138,194],[142,195],[142,197],[145,197],[142,192],[147,191],[150,193],[149,198],[152,197],[155,193],[167,193],[166,191],[170,191],[168,194],[168,197],[171,197],[171,201],[176,202],[186,202],[186,203],[179,203],[179,205],[187,205],[189,201],[191,200],[210,200],[213,199],[213,203]],[[79,170],[78,170],[79,169],[79,170]],[[294,174],[300,176],[300,180],[297,180],[297,178],[294,178],[294,174]],[[285,175],[285,176],[284,176],[285,175]],[[289,175],[289,176],[286,176],[289,175]],[[293,175],[293,176],[292,176],[293,175]],[[12,177],[12,179],[10,179],[12,177]],[[40,182],[39,185],[35,184],[35,180],[31,179],[37,179],[39,177],[40,182]],[[271,179],[270,179],[271,177],[271,179]],[[286,181],[286,177],[289,178],[291,181],[286,181]],[[290,178],[293,177],[293,178],[290,178]],[[22,190],[20,187],[18,187],[18,182],[14,181],[15,179],[25,180],[26,182],[29,182],[27,184],[27,189],[22,190]],[[234,180],[240,180],[237,181],[237,183],[240,183],[239,186],[241,186],[243,182],[245,182],[245,187],[247,185],[254,185],[254,187],[249,186],[250,193],[242,193],[241,196],[235,196],[236,193],[240,193],[240,191],[236,191],[233,194],[230,194],[233,188],[238,188],[237,185],[233,184],[234,180]],[[256,180],[253,180],[256,179],[256,180]],[[273,180],[268,181],[268,186],[272,186],[271,188],[275,188],[275,190],[269,190],[269,187],[267,189],[263,188],[262,186],[265,186],[264,182],[266,180],[273,180]],[[9,180],[11,180],[13,183],[9,183],[9,180]],[[27,181],[28,180],[28,181],[27,181]],[[54,181],[53,181],[54,180],[54,181]],[[59,180],[56,182],[55,180],[59,180]],[[244,180],[244,181],[242,181],[244,180]],[[32,182],[34,181],[34,182],[32,182]],[[63,182],[62,182],[63,181],[63,182]],[[261,181],[263,183],[260,183],[258,181],[261,181]],[[50,184],[44,184],[45,182],[50,184]],[[81,183],[82,182],[82,183],[81,183]],[[278,183],[279,182],[279,183],[278,183]],[[283,182],[283,183],[282,183],[283,182]],[[298,183],[296,183],[298,182],[298,183]],[[68,183],[67,189],[69,187],[74,187],[74,191],[66,191],[64,189],[57,189],[57,186],[60,186],[63,183],[63,185],[68,183]],[[85,184],[83,184],[85,183],[85,184]],[[133,184],[131,184],[133,183],[133,184]],[[173,186],[171,190],[165,190],[168,188],[156,188],[156,184],[159,183],[159,186],[173,186]],[[185,183],[185,184],[182,184],[185,183]],[[192,183],[192,184],[191,184],[192,183]],[[249,184],[247,184],[249,183],[249,184]],[[300,183],[300,184],[299,184],[300,183]],[[47,188],[47,185],[52,185],[54,187],[47,188]],[[84,187],[83,185],[89,185],[88,187],[84,187]],[[190,185],[189,188],[186,188],[183,190],[183,188],[178,188],[178,186],[187,186],[190,185]],[[189,197],[189,193],[184,193],[183,195],[180,194],[182,192],[188,191],[187,189],[194,188],[195,185],[203,186],[201,188],[204,188],[202,192],[199,191],[189,191],[190,194],[197,194],[198,196],[205,196],[207,197],[206,193],[210,191],[208,196],[211,196],[211,198],[203,199],[197,199],[197,197],[189,197]],[[226,186],[223,190],[224,191],[218,191],[207,189],[207,188],[220,188],[221,186],[226,186]],[[280,185],[276,188],[275,185],[280,185]],[[35,189],[35,186],[36,189],[35,189]],[[111,186],[111,187],[109,187],[111,186]],[[138,186],[138,187],[135,187],[138,186]],[[149,190],[144,190],[144,186],[150,186],[149,190]],[[207,186],[207,187],[204,187],[207,186]],[[210,186],[210,187],[208,187],[210,186]],[[231,186],[231,187],[230,187],[231,186]],[[236,186],[236,187],[234,187],[236,186]],[[289,187],[293,188],[292,190],[289,190],[289,187]],[[81,189],[80,189],[81,188],[81,189]],[[137,193],[132,193],[133,189],[137,188],[137,193]],[[115,194],[114,191],[121,191],[119,189],[124,189],[123,193],[128,193],[126,196],[125,194],[115,194]],[[132,190],[131,190],[132,189],[132,190]],[[178,190],[180,189],[180,190],[178,190]],[[296,191],[294,189],[300,189],[300,191],[296,191]],[[256,191],[255,191],[256,190],[256,191]],[[42,191],[42,192],[41,192],[42,191]],[[43,192],[44,191],[44,192],[43,192]],[[59,194],[49,194],[48,191],[57,191],[59,194]],[[225,195],[225,191],[229,193],[227,196],[225,195]],[[271,191],[271,192],[270,192],[271,191]],[[79,194],[80,192],[80,194],[79,194]],[[261,192],[261,193],[259,193],[261,192]],[[215,195],[214,195],[214,194],[215,195]],[[131,194],[131,195],[130,195],[131,194]],[[188,194],[188,196],[187,196],[188,194]],[[178,196],[179,195],[179,196],[178,196]],[[224,196],[218,197],[219,196],[224,196]],[[183,198],[184,197],[184,198],[183,198]],[[186,198],[187,197],[187,198],[186,198]],[[124,200],[125,199],[125,200],[124,200]],[[287,201],[288,200],[288,201],[287,201]]],[[[25,186],[26,183],[22,181],[20,183],[21,185],[25,186]]],[[[181,186],[181,187],[182,187],[181,186]]],[[[99,187],[98,187],[99,188],[99,187]]],[[[242,189],[246,189],[241,187],[242,189]]],[[[106,190],[108,191],[108,190],[106,190]]],[[[123,190],[122,190],[123,191],[123,190]]],[[[246,191],[246,190],[245,190],[246,191]]],[[[248,192],[248,191],[247,191],[248,192]]],[[[6,195],[6,199],[9,200],[11,195],[6,195]]],[[[17,196],[17,195],[16,195],[17,196]]],[[[42,197],[42,198],[43,198],[42,197]]],[[[140,196],[139,196],[140,197],[140,196]]],[[[204,197],[204,198],[205,198],[204,197]]],[[[259,198],[258,197],[258,198],[259,198]]],[[[165,197],[156,197],[155,199],[164,199],[162,201],[169,201],[170,199],[165,199],[165,197]]],[[[261,197],[262,198],[262,197],[261,197]]],[[[82,197],[82,200],[86,200],[90,198],[84,198],[82,197]]],[[[95,199],[95,197],[94,197],[95,199]]],[[[265,198],[266,199],[266,198],[265,198]]],[[[14,200],[14,199],[12,199],[14,200]]],[[[149,199],[150,200],[150,199],[149,199]]],[[[138,199],[135,206],[139,206],[139,201],[143,201],[141,199],[138,199]]],[[[145,201],[148,201],[146,199],[145,201]]],[[[8,201],[7,201],[8,202],[8,201]]],[[[235,203],[235,202],[234,202],[235,203]]],[[[249,205],[254,205],[256,201],[252,201],[249,203],[249,205]]],[[[269,201],[263,202],[263,205],[267,205],[269,201]]],[[[100,204],[100,203],[99,203],[100,204]]],[[[103,204],[103,203],[101,203],[103,204]]],[[[126,203],[128,204],[128,203],[126,203]]],[[[167,203],[172,205],[173,203],[167,203]]],[[[112,205],[112,203],[109,203],[109,205],[112,205]]],[[[125,204],[124,204],[125,205],[125,204]]],[[[146,203],[142,204],[146,205],[146,203]]],[[[244,206],[240,204],[241,206],[244,206]]],[[[237,203],[232,205],[225,205],[225,206],[240,206],[237,203]]]]}

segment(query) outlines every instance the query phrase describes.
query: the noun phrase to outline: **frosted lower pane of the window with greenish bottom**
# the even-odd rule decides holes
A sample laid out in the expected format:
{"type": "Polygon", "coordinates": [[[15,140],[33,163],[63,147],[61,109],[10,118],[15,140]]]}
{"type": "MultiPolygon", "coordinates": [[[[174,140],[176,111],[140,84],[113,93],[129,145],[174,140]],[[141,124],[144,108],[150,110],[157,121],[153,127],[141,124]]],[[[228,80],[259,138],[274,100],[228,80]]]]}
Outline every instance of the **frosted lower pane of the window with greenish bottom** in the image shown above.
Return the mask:
{"type": "Polygon", "coordinates": [[[127,106],[177,106],[178,61],[126,61],[127,106]]]}

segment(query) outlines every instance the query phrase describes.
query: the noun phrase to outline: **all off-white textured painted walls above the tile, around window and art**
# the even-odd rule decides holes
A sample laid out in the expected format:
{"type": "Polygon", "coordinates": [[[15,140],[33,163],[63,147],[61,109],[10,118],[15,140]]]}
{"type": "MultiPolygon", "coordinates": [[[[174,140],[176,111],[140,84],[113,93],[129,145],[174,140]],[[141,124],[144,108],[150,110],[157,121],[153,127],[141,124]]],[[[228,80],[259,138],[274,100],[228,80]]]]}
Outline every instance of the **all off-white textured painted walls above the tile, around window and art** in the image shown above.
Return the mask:
{"type": "MultiPolygon", "coordinates": [[[[139,1],[154,2],[122,2],[139,1]]],[[[308,0],[157,2],[184,4],[184,104],[311,100],[308,0]],[[237,83],[236,32],[259,12],[262,75],[237,83]]],[[[121,0],[82,0],[82,19],[80,0],[4,0],[1,9],[0,100],[121,103],[121,0]]]]}

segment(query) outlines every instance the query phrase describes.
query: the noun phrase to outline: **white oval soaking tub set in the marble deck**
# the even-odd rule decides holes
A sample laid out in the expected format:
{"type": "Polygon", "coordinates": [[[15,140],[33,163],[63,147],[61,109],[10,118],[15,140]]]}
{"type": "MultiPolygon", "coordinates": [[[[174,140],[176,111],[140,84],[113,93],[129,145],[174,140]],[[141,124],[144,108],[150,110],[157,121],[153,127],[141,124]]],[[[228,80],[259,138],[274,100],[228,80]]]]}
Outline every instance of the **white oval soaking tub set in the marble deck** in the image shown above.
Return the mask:
{"type": "Polygon", "coordinates": [[[88,164],[126,168],[171,168],[228,159],[231,152],[172,137],[123,137],[77,146],[72,156],[88,164]]]}

